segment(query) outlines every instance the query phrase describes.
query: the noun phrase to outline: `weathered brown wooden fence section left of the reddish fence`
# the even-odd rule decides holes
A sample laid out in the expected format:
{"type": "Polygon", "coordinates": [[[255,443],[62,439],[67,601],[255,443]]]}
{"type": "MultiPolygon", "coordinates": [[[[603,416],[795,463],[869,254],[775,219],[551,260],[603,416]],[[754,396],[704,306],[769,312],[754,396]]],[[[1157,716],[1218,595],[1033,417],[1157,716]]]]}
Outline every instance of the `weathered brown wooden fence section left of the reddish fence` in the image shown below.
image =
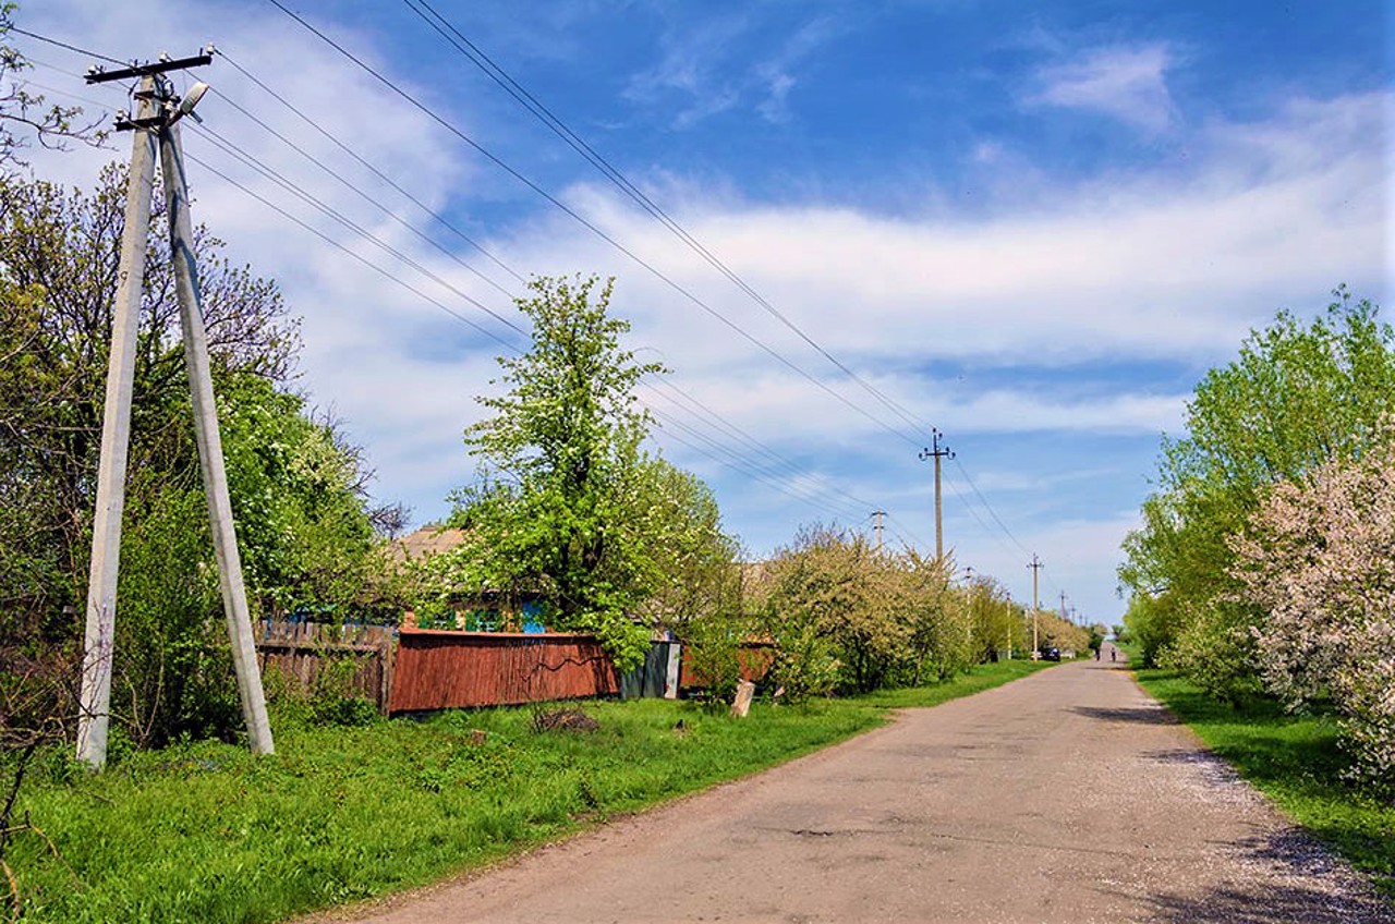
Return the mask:
{"type": "Polygon", "coordinates": [[[261,620],[254,629],[264,677],[279,671],[306,694],[332,683],[338,692],[363,696],[386,712],[395,627],[261,620]],[[332,678],[331,670],[336,671],[332,678]]]}

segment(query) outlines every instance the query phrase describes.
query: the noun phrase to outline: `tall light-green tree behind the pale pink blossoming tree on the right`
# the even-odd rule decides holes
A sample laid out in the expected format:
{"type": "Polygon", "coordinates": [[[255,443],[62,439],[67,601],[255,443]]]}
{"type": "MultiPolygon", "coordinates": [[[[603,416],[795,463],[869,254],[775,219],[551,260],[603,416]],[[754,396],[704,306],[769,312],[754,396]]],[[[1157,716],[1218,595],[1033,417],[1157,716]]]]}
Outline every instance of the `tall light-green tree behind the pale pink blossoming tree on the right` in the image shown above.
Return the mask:
{"type": "Polygon", "coordinates": [[[1395,332],[1345,289],[1311,324],[1282,311],[1214,368],[1165,440],[1144,525],[1124,540],[1120,583],[1147,663],[1180,667],[1239,702],[1258,688],[1261,613],[1230,575],[1237,535],[1272,484],[1362,451],[1395,403],[1395,332]]]}

